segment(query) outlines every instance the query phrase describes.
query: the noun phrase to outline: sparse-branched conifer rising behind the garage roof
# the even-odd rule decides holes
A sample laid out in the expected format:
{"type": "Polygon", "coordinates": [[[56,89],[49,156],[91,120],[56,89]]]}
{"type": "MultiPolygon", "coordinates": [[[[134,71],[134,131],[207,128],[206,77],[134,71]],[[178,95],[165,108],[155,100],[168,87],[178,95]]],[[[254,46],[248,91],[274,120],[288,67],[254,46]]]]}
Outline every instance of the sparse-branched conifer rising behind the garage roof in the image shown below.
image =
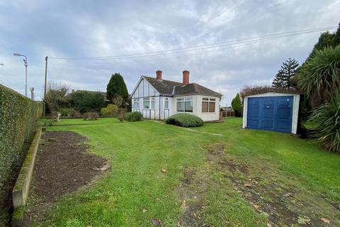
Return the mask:
{"type": "Polygon", "coordinates": [[[289,58],[288,60],[285,60],[273,79],[273,87],[294,88],[295,83],[293,82],[293,77],[297,72],[298,66],[299,63],[297,63],[295,59],[289,58]]]}

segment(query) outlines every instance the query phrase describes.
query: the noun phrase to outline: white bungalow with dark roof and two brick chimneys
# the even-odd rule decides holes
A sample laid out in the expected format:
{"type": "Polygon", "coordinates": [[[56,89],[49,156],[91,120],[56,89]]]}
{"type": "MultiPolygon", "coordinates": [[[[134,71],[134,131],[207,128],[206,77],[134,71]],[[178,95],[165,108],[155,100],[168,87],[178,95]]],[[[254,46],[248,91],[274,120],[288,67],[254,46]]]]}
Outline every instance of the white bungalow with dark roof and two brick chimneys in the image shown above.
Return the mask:
{"type": "Polygon", "coordinates": [[[178,113],[199,116],[203,121],[218,121],[222,94],[200,84],[189,82],[189,71],[183,71],[183,82],[141,76],[131,93],[132,111],[140,111],[143,118],[166,119],[178,113]]]}

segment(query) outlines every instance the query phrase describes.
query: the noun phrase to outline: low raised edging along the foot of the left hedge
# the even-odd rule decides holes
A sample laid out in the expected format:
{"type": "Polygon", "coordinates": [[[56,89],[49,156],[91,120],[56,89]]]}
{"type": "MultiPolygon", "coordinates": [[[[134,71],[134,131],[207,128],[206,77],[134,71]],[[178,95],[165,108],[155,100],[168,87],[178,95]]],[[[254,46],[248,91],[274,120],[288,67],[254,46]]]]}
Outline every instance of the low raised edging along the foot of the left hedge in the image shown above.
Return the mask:
{"type": "Polygon", "coordinates": [[[16,184],[13,187],[12,199],[14,211],[12,215],[12,226],[23,225],[23,211],[28,198],[28,192],[30,190],[30,182],[33,175],[35,157],[38,153],[41,134],[42,128],[39,127],[35,133],[33,142],[30,145],[26,158],[23,161],[23,165],[21,166],[16,184]]]}

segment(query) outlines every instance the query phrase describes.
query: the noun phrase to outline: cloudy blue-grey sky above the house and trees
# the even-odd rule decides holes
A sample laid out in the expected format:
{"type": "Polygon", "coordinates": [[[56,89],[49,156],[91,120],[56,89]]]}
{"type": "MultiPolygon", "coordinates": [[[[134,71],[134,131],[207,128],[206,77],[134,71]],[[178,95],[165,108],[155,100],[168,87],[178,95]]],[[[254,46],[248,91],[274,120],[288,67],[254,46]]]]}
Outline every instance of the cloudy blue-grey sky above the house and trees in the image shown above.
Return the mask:
{"type": "Polygon", "coordinates": [[[0,0],[0,83],[24,94],[22,57],[13,56],[19,52],[28,57],[28,87],[38,100],[49,56],[48,82],[72,89],[105,92],[119,72],[132,92],[141,75],[162,70],[163,79],[181,82],[188,70],[190,82],[220,92],[229,106],[245,85],[271,84],[288,57],[304,62],[321,31],[244,40],[336,28],[339,9],[340,0],[0,0]],[[107,56],[123,57],[72,60],[107,56]]]}

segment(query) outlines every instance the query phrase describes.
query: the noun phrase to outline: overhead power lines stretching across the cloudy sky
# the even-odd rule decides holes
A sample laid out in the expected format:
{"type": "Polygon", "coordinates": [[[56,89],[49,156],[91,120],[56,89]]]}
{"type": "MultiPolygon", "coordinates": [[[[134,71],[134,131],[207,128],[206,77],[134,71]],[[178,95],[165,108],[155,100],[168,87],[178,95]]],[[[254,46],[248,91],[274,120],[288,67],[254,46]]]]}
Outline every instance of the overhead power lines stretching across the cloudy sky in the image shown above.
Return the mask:
{"type": "MultiPolygon", "coordinates": [[[[164,50],[164,51],[157,51],[157,52],[147,52],[147,53],[136,53],[130,55],[115,55],[115,56],[106,56],[106,57],[50,57],[50,59],[54,60],[74,60],[74,61],[86,61],[86,60],[121,60],[121,59],[132,59],[137,57],[154,57],[158,55],[171,55],[180,52],[192,52],[192,51],[200,51],[198,53],[202,53],[203,50],[209,50],[212,48],[220,48],[225,46],[232,46],[235,44],[242,44],[242,43],[250,43],[253,44],[254,42],[262,42],[263,40],[272,40],[276,38],[285,38],[289,36],[295,35],[302,35],[307,33],[315,33],[319,31],[324,31],[328,29],[335,29],[337,27],[327,27],[327,28],[312,28],[302,31],[290,31],[285,33],[276,33],[270,35],[260,35],[256,38],[248,38],[248,39],[238,39],[238,40],[225,40],[219,43],[211,44],[211,45],[196,45],[188,48],[178,48],[172,50],[164,50]]],[[[215,50],[214,50],[215,51],[215,50]]]]}

